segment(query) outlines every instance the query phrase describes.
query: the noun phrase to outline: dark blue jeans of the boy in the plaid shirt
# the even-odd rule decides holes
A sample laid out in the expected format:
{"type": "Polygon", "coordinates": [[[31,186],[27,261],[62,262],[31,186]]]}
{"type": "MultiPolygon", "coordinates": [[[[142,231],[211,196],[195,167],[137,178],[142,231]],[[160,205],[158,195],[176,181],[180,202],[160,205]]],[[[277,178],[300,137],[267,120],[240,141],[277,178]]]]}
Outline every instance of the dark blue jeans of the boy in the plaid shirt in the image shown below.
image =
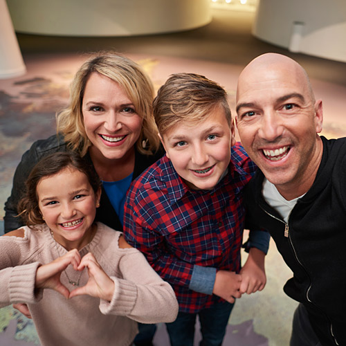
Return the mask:
{"type": "Polygon", "coordinates": [[[199,313],[179,312],[172,323],[166,323],[171,346],[193,346],[194,325],[197,315],[201,323],[202,340],[200,346],[221,346],[226,334],[230,312],[234,304],[219,302],[199,313]]]}

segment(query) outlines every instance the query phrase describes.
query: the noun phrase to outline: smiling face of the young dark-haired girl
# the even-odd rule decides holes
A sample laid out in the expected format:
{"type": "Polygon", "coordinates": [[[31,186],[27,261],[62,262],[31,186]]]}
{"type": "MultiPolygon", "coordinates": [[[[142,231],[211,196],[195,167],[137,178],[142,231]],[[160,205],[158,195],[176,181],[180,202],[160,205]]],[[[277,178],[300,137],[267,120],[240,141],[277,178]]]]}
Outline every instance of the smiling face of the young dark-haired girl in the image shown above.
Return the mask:
{"type": "Polygon", "coordinates": [[[56,242],[71,250],[91,241],[101,190],[95,194],[84,173],[66,167],[41,179],[36,193],[39,210],[56,242]]]}

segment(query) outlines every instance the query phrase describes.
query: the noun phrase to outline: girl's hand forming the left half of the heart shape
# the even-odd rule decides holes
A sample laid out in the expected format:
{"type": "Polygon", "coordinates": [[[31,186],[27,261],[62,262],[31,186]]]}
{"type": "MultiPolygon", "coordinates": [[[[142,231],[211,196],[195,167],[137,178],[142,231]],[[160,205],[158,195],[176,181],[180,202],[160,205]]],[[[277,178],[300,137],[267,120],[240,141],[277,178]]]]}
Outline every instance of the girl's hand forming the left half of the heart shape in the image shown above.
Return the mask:
{"type": "Polygon", "coordinates": [[[39,266],[36,272],[35,287],[37,289],[53,289],[64,295],[65,298],[69,298],[70,291],[60,282],[60,275],[69,264],[73,265],[75,271],[78,270],[80,253],[77,249],[69,251],[51,263],[39,266]]]}

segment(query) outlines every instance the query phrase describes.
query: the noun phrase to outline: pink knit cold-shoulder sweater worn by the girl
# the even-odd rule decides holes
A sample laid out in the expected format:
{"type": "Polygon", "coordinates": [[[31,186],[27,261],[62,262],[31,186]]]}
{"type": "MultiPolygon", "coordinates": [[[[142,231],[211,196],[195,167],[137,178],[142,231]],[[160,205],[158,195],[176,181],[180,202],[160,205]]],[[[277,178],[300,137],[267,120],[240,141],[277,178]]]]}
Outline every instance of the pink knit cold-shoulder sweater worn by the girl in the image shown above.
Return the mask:
{"type": "MultiPolygon", "coordinates": [[[[51,289],[35,290],[39,264],[47,264],[67,251],[57,244],[46,225],[25,227],[25,237],[0,237],[0,307],[26,302],[43,346],[129,346],[137,323],[172,322],[178,303],[170,284],[161,280],[135,248],[119,248],[120,232],[98,223],[93,240],[82,250],[98,260],[115,283],[111,302],[81,295],[67,300],[51,289]]],[[[67,275],[78,281],[80,272],[70,265],[67,275]]],[[[60,280],[70,291],[63,272],[60,280]]],[[[88,280],[87,270],[80,286],[88,280]]]]}

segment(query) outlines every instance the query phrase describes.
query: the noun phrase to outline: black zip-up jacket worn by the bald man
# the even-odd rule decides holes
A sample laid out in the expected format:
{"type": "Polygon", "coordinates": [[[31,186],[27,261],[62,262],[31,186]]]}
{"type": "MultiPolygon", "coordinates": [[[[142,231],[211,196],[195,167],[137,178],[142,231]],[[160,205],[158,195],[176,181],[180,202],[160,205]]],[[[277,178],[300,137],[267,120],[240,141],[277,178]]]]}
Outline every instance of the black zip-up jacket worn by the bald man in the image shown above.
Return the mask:
{"type": "Polygon", "coordinates": [[[302,302],[322,345],[346,345],[346,138],[321,136],[316,179],[298,200],[286,224],[262,196],[257,171],[245,190],[247,226],[271,233],[293,271],[284,291],[302,302]]]}

